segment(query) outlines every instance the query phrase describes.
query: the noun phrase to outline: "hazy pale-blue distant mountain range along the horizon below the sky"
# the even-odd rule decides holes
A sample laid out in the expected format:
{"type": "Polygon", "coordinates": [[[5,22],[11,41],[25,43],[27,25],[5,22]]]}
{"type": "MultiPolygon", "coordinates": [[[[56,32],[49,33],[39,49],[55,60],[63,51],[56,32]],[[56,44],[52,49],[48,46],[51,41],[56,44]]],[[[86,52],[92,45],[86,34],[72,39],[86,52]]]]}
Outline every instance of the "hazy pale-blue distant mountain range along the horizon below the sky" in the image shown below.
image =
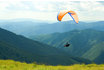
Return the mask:
{"type": "Polygon", "coordinates": [[[67,32],[71,30],[83,30],[83,29],[95,29],[104,31],[104,21],[96,22],[82,22],[75,24],[73,21],[63,21],[55,22],[49,24],[49,22],[30,20],[28,21],[6,21],[0,22],[0,27],[12,31],[19,35],[24,35],[26,37],[40,35],[40,34],[50,34],[54,32],[67,32]],[[6,23],[6,24],[5,24],[6,23]]]}

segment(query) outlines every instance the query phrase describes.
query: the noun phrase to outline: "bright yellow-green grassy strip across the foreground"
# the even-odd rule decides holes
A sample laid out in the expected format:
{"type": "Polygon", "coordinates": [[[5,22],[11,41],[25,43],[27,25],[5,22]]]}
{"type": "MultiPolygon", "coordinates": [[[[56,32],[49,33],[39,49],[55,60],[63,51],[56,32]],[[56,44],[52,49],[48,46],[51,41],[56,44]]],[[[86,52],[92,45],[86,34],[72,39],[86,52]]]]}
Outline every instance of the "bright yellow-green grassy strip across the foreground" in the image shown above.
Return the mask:
{"type": "Polygon", "coordinates": [[[74,64],[71,66],[50,66],[36,63],[21,63],[13,60],[0,60],[0,70],[104,70],[104,64],[74,64]]]}

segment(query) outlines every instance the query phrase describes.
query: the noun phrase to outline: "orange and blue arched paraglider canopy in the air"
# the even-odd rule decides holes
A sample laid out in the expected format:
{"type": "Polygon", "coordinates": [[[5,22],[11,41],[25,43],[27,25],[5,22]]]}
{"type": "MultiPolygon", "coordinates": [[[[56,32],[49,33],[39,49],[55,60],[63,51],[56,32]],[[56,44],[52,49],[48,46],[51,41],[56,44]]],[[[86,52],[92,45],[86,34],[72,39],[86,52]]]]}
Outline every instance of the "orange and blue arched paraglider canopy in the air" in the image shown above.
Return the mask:
{"type": "Polygon", "coordinates": [[[75,23],[78,23],[78,16],[77,16],[77,14],[76,14],[74,11],[68,11],[68,10],[60,11],[59,14],[57,15],[57,20],[58,20],[58,21],[61,21],[62,18],[63,18],[66,14],[69,14],[69,15],[72,17],[72,19],[73,19],[73,21],[74,21],[75,23]]]}

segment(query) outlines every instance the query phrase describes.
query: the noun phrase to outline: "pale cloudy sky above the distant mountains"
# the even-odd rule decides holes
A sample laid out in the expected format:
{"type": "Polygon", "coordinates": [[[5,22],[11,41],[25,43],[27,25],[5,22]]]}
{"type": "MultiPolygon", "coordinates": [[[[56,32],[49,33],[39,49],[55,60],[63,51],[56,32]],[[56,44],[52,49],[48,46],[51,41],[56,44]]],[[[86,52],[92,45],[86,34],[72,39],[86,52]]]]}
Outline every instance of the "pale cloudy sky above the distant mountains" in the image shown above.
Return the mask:
{"type": "MultiPolygon", "coordinates": [[[[104,21],[104,1],[18,0],[0,1],[0,20],[34,19],[57,22],[61,10],[72,10],[79,21],[104,21]]],[[[62,21],[72,20],[67,14],[62,21]]]]}

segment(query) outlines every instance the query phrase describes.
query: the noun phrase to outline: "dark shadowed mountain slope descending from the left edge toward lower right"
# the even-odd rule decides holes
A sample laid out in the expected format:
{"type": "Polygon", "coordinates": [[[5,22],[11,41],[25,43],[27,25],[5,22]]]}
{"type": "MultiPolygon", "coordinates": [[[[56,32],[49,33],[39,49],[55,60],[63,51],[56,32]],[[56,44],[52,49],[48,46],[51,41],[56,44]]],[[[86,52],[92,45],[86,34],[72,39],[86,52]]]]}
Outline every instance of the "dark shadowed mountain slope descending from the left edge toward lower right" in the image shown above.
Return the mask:
{"type": "Polygon", "coordinates": [[[55,47],[33,41],[0,28],[0,59],[22,62],[37,62],[48,65],[90,63],[89,60],[73,57],[55,47]]]}

